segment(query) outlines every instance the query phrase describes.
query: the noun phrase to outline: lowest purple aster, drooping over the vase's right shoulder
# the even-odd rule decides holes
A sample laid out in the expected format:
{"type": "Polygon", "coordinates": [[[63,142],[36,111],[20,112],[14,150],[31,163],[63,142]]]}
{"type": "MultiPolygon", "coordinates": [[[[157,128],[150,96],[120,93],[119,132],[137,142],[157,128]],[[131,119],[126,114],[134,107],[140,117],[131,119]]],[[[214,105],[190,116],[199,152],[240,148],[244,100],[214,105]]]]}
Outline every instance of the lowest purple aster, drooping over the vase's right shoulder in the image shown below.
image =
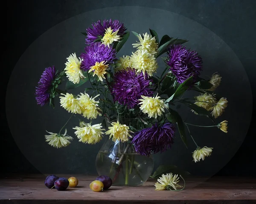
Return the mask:
{"type": "Polygon", "coordinates": [[[149,156],[153,153],[164,152],[171,147],[174,133],[175,126],[173,124],[166,123],[163,126],[158,126],[156,123],[152,127],[135,132],[132,144],[137,153],[149,156]]]}

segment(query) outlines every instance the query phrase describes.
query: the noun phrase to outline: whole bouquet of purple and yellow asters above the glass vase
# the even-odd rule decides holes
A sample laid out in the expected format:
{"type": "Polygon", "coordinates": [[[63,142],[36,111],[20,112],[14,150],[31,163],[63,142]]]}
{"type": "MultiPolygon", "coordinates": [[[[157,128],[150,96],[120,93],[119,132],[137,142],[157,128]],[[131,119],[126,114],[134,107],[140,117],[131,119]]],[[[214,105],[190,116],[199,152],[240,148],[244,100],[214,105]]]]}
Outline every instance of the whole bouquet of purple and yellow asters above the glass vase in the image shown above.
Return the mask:
{"type": "MultiPolygon", "coordinates": [[[[60,72],[54,66],[44,70],[36,87],[37,103],[54,107],[58,98],[60,106],[70,112],[71,117],[81,115],[84,119],[73,128],[73,134],[83,143],[95,144],[105,134],[113,141],[130,141],[136,152],[145,156],[170,148],[175,132],[187,145],[186,132],[191,136],[189,126],[199,125],[183,121],[175,111],[180,103],[188,106],[195,117],[211,118],[213,124],[204,127],[217,127],[227,133],[227,121],[214,121],[227,107],[226,98],[218,98],[214,93],[221,77],[218,73],[209,79],[200,77],[202,58],[198,52],[183,46],[187,40],[167,34],[159,40],[152,29],[144,34],[131,33],[138,38],[137,43],[132,44],[134,52],[118,58],[130,32],[119,20],[93,23],[82,33],[87,46],[79,57],[76,53],[68,56],[60,72]],[[155,75],[159,70],[158,57],[163,60],[165,69],[155,75]],[[58,89],[63,80],[67,81],[66,90],[58,89]],[[90,86],[84,87],[84,92],[71,93],[71,89],[87,81],[90,86]],[[183,98],[190,90],[198,95],[183,98]],[[93,119],[98,116],[102,116],[103,121],[94,124],[93,119]]],[[[70,144],[73,138],[67,135],[67,129],[61,132],[64,126],[59,133],[45,135],[49,145],[60,148],[70,144]]],[[[211,155],[212,148],[201,148],[196,142],[195,145],[197,148],[192,153],[195,162],[211,155]]]]}

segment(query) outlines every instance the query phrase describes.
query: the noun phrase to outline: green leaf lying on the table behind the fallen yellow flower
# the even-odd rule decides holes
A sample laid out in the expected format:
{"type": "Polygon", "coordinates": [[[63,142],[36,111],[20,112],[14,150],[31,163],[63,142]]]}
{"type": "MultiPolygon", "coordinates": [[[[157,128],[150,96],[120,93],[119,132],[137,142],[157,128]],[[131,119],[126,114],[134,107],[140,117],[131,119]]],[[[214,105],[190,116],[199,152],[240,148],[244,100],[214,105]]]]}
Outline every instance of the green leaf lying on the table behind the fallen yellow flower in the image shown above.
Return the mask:
{"type": "Polygon", "coordinates": [[[159,178],[162,176],[162,174],[167,174],[167,173],[173,173],[177,175],[190,175],[189,172],[180,170],[177,166],[175,165],[160,165],[154,172],[153,175],[150,176],[150,178],[159,178]]]}

